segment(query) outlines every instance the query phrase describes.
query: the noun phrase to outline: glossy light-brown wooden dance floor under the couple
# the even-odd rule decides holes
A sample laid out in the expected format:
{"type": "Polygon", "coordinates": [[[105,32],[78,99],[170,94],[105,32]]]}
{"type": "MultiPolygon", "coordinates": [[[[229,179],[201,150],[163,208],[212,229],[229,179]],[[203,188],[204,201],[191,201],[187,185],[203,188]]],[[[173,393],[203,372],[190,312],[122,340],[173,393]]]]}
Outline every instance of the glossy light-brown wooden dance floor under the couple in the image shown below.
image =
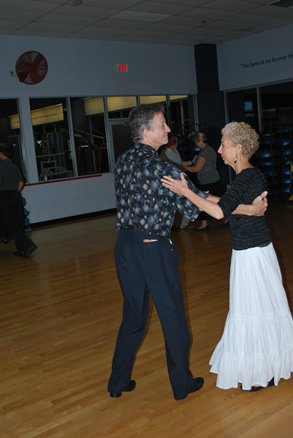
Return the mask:
{"type": "MultiPolygon", "coordinates": [[[[151,305],[132,376],[137,387],[109,397],[122,314],[115,219],[36,227],[39,249],[28,259],[13,255],[14,242],[0,244],[1,438],[291,438],[293,377],[245,393],[217,388],[209,372],[228,310],[231,243],[222,222],[212,221],[207,232],[172,233],[192,335],[190,368],[205,379],[203,389],[174,400],[151,305]]],[[[273,203],[267,219],[292,303],[293,206],[273,203]]]]}

